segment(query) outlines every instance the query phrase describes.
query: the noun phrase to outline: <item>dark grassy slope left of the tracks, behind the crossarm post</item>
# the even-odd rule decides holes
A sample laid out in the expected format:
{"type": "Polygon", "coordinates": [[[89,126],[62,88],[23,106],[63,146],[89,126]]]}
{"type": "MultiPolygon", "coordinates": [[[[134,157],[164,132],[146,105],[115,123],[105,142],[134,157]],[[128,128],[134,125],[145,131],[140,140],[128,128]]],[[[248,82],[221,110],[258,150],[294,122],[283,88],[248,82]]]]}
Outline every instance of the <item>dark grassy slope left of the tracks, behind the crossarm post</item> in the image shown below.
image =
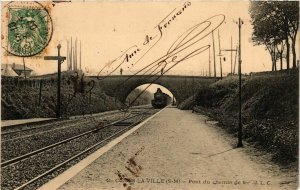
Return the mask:
{"type": "MultiPolygon", "coordinates": [[[[62,88],[62,116],[80,115],[118,109],[120,102],[107,96],[100,90],[95,90],[89,103],[88,94],[78,93],[68,101],[68,96],[73,90],[62,88]],[[68,106],[67,106],[68,105],[68,106]]],[[[34,117],[55,117],[56,87],[44,86],[41,104],[38,104],[39,89],[26,88],[2,88],[1,119],[25,119],[34,117]],[[9,105],[9,106],[8,106],[9,105]]]]}

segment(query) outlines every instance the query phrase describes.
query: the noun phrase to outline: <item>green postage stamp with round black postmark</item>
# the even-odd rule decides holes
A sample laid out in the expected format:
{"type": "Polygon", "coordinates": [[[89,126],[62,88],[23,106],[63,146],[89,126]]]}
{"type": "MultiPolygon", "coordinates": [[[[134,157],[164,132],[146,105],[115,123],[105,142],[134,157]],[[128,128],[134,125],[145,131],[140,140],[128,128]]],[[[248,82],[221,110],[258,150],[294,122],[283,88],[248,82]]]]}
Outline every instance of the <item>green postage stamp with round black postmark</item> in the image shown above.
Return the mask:
{"type": "Polygon", "coordinates": [[[29,57],[44,50],[51,39],[52,21],[37,2],[12,2],[5,9],[7,23],[7,51],[29,57]]]}

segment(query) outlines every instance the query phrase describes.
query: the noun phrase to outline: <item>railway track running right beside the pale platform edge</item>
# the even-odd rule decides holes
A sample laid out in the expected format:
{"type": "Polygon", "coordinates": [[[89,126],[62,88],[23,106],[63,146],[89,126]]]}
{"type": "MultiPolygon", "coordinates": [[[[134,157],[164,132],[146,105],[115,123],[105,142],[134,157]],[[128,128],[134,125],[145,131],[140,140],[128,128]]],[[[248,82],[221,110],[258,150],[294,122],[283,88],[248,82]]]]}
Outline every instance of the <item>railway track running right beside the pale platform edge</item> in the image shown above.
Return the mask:
{"type": "MultiPolygon", "coordinates": [[[[49,179],[119,136],[155,110],[131,114],[126,118],[45,146],[1,163],[2,189],[36,189],[49,179]]],[[[4,147],[5,148],[5,147],[4,147]]]]}

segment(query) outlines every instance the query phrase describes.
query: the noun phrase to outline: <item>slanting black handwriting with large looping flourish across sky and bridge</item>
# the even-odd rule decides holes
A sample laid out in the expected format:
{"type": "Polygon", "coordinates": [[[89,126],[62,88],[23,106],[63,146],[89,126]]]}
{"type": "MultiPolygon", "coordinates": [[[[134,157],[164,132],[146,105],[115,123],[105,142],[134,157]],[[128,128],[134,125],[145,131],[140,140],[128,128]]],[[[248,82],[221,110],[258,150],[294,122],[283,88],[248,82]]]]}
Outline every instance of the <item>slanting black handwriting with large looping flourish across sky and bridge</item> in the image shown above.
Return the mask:
{"type": "MultiPolygon", "coordinates": [[[[182,15],[182,13],[191,6],[190,2],[185,2],[183,7],[172,10],[164,19],[162,19],[155,27],[154,35],[147,34],[143,39],[142,45],[134,45],[128,48],[121,56],[117,57],[113,61],[107,63],[98,73],[98,79],[104,80],[117,69],[120,73],[123,72],[123,68],[129,69],[134,67],[141,59],[162,39],[164,31],[168,29],[175,19],[182,15]],[[125,66],[126,64],[126,66],[125,66]],[[104,72],[104,70],[110,70],[104,72]],[[105,73],[105,75],[103,75],[105,73]]],[[[198,24],[190,27],[184,33],[182,33],[173,43],[170,44],[170,48],[161,57],[155,58],[154,61],[143,65],[141,69],[128,76],[125,80],[121,81],[113,91],[118,91],[122,86],[126,85],[132,77],[140,75],[141,77],[152,77],[148,87],[155,83],[161,76],[169,72],[176,65],[195,57],[210,48],[206,39],[210,34],[218,29],[225,21],[225,15],[218,14],[207,18],[206,20],[199,22],[198,24]]],[[[146,87],[146,89],[148,88],[146,87]]],[[[145,89],[145,90],[146,90],[145,89]]],[[[131,107],[134,102],[141,96],[140,94],[130,102],[131,107]]]]}

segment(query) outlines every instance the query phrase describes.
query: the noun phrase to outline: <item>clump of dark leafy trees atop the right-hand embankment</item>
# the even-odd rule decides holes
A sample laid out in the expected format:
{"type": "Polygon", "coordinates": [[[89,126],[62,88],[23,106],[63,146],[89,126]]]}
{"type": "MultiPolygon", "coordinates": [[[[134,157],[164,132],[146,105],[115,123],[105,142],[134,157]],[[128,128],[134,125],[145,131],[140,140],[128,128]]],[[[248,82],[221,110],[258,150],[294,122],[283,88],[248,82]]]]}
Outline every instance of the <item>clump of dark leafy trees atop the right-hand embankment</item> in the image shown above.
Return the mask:
{"type": "MultiPolygon", "coordinates": [[[[293,67],[296,67],[296,36],[299,27],[299,2],[252,1],[249,8],[253,25],[252,40],[264,44],[276,69],[276,49],[281,58],[286,46],[286,63],[289,68],[290,40],[292,41],[293,67]],[[280,46],[280,48],[278,48],[280,46]]],[[[282,67],[282,66],[281,66],[282,67]]]]}

